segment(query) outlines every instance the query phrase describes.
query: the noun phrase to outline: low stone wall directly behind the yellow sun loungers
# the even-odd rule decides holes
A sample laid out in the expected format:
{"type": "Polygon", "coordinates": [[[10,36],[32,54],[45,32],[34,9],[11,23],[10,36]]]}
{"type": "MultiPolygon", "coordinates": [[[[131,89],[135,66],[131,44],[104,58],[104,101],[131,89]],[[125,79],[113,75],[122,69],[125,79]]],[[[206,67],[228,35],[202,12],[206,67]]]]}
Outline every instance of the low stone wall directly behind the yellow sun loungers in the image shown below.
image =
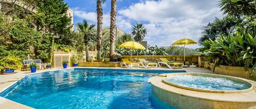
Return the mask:
{"type": "MultiPolygon", "coordinates": [[[[122,58],[130,60],[130,55],[124,55],[122,58]]],[[[168,60],[181,62],[181,63],[183,63],[183,60],[184,60],[183,55],[133,55],[132,61],[138,62],[138,59],[141,59],[141,58],[144,58],[152,62],[159,62],[160,61],[159,58],[166,58],[168,60]]],[[[186,65],[192,65],[192,63],[194,63],[194,65],[201,66],[200,55],[187,55],[186,65]]]]}

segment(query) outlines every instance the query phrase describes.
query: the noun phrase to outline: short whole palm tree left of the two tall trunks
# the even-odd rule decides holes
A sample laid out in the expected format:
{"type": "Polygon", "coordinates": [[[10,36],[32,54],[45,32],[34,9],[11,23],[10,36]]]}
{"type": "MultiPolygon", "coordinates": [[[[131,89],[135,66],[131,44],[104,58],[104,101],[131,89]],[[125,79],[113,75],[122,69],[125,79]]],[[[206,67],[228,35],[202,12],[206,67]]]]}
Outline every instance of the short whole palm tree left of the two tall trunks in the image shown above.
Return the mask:
{"type": "Polygon", "coordinates": [[[95,25],[88,24],[87,21],[84,21],[83,23],[77,23],[76,26],[78,27],[78,30],[80,33],[84,34],[84,40],[85,40],[85,53],[86,53],[86,61],[89,61],[89,50],[88,50],[88,42],[92,39],[92,36],[94,35],[94,27],[95,25]]]}

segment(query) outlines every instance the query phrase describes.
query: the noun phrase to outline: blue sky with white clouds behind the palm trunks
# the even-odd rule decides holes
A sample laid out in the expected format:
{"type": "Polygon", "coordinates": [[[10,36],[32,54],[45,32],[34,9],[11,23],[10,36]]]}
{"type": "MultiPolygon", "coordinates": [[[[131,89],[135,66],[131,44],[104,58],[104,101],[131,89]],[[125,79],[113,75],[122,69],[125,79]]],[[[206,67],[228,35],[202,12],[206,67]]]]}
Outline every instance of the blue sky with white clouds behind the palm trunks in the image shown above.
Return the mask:
{"type": "MultiPolygon", "coordinates": [[[[74,24],[84,20],[97,24],[96,0],[65,0],[73,9],[74,24]]],[[[110,26],[111,0],[103,4],[103,26],[110,26]]],[[[144,41],[151,46],[171,46],[184,37],[198,41],[202,28],[219,12],[218,0],[117,0],[117,28],[131,33],[133,25],[147,29],[144,41]]],[[[198,44],[188,48],[199,48],[198,44]]]]}

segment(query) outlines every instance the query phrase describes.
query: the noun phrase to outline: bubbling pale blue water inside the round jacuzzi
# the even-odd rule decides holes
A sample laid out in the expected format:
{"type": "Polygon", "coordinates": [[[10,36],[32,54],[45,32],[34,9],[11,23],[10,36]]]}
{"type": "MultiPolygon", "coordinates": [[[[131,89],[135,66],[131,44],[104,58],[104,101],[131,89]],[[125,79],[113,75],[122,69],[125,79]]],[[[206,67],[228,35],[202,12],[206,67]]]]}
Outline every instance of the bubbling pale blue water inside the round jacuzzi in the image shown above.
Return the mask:
{"type": "Polygon", "coordinates": [[[230,79],[213,78],[201,75],[175,75],[164,78],[164,80],[179,86],[214,91],[236,91],[250,87],[248,84],[236,82],[230,79]]]}

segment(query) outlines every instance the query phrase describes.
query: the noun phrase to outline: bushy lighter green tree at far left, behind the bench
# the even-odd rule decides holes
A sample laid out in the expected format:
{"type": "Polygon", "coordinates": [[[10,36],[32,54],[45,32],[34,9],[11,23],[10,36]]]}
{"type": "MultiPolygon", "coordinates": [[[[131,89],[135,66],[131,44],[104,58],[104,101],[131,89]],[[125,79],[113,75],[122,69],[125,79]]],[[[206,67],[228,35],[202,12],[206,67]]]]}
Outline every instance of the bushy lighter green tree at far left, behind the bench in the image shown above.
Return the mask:
{"type": "Polygon", "coordinates": [[[13,16],[0,17],[0,58],[7,55],[19,56],[21,59],[42,59],[49,57],[49,37],[35,30],[25,20],[13,16]]]}

